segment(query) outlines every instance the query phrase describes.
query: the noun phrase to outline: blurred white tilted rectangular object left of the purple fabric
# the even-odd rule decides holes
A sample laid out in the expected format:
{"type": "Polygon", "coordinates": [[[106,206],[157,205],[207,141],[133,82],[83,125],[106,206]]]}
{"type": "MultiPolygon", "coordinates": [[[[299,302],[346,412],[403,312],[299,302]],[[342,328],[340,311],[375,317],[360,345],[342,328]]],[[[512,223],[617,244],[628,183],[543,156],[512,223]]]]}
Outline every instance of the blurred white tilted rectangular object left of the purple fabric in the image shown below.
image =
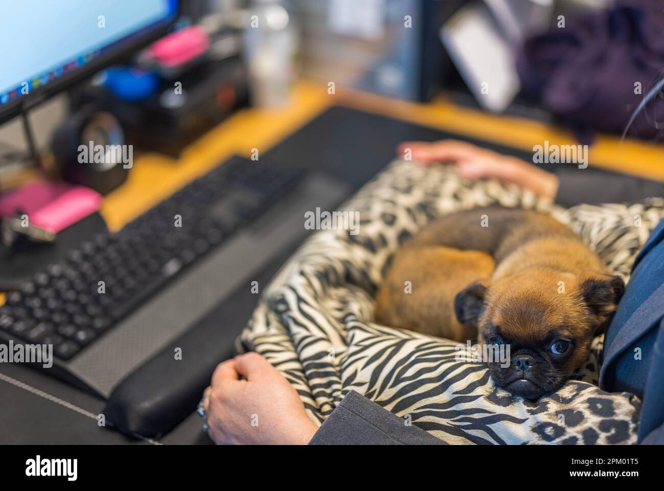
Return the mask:
{"type": "Polygon", "coordinates": [[[514,53],[484,5],[465,7],[440,30],[450,58],[482,108],[503,112],[521,89],[514,53]]]}

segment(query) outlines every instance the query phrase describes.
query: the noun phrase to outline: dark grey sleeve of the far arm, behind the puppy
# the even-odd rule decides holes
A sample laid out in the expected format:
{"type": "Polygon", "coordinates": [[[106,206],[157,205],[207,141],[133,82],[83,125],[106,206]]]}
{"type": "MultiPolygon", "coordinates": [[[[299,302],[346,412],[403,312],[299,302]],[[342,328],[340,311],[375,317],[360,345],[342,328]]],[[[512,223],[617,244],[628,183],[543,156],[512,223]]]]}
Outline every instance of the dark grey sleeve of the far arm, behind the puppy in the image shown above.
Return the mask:
{"type": "Polygon", "coordinates": [[[591,169],[558,169],[556,203],[564,207],[588,203],[622,203],[664,196],[664,183],[591,169]]]}

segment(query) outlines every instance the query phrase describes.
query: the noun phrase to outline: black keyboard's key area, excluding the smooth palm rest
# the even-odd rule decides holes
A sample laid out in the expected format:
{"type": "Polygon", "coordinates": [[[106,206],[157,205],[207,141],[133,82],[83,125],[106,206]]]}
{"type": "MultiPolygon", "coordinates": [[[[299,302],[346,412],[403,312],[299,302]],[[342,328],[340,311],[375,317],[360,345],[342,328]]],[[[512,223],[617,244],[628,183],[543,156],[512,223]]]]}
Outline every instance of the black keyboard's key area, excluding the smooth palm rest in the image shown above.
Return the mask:
{"type": "Polygon", "coordinates": [[[0,306],[3,338],[52,344],[64,361],[112,330],[154,292],[289,193],[303,174],[231,159],[116,234],[70,250],[0,306]]]}

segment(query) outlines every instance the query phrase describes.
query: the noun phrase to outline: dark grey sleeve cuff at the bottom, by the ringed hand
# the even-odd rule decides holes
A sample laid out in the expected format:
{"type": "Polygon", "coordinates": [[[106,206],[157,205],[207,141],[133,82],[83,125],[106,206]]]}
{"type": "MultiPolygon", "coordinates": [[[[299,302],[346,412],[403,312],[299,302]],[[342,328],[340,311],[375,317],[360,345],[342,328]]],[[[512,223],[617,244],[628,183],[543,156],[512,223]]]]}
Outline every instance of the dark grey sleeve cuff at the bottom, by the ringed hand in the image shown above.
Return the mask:
{"type": "Polygon", "coordinates": [[[310,445],[436,445],[444,441],[350,391],[323,421],[310,445]]]}

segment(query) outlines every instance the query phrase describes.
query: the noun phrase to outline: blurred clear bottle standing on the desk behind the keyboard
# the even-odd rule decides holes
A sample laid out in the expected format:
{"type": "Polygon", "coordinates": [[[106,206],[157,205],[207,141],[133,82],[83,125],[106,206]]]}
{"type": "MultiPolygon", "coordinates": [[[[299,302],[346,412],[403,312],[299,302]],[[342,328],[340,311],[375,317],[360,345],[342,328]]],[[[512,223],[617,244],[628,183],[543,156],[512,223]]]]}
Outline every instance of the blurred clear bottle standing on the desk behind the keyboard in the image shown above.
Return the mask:
{"type": "Polygon", "coordinates": [[[274,108],[288,104],[297,52],[297,32],[288,11],[277,1],[260,1],[250,11],[245,45],[254,106],[274,108]]]}

